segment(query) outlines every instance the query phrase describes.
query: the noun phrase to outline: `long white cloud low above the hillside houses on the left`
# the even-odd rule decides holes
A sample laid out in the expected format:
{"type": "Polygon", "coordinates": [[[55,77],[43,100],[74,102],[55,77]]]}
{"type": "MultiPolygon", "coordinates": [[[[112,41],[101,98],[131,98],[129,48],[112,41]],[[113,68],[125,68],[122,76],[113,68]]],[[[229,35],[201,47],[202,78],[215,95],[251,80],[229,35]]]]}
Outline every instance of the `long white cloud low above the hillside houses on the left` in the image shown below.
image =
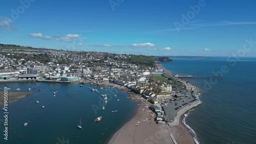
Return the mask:
{"type": "Polygon", "coordinates": [[[50,39],[50,40],[57,40],[57,41],[73,41],[75,38],[79,38],[80,35],[78,34],[67,34],[65,36],[43,36],[41,33],[31,33],[29,34],[32,38],[41,38],[41,39],[50,39]]]}

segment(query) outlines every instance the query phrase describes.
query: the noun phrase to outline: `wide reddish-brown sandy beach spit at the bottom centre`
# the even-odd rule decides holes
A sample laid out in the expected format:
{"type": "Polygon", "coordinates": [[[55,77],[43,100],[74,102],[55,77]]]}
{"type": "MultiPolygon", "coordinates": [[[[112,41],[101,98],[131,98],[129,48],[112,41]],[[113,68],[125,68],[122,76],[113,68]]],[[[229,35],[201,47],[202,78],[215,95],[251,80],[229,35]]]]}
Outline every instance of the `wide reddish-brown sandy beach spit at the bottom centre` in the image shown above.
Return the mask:
{"type": "Polygon", "coordinates": [[[156,124],[155,113],[151,116],[151,110],[141,110],[144,106],[150,106],[150,104],[146,103],[146,100],[140,101],[137,114],[115,133],[109,144],[173,143],[168,126],[156,124]]]}

